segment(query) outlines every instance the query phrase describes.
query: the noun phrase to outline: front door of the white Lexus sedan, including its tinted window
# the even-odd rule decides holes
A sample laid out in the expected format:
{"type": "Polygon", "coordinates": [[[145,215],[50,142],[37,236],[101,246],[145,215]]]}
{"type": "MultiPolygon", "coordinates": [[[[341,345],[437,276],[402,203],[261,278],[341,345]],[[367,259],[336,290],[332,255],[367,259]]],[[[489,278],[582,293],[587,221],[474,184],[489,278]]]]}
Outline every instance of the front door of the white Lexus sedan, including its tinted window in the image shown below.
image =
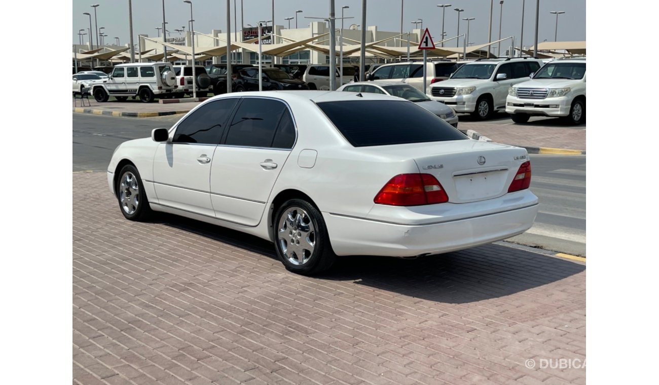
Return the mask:
{"type": "Polygon", "coordinates": [[[176,126],[171,141],[154,157],[154,186],[161,205],[215,217],[210,170],[215,147],[239,99],[219,99],[192,111],[176,126]]]}

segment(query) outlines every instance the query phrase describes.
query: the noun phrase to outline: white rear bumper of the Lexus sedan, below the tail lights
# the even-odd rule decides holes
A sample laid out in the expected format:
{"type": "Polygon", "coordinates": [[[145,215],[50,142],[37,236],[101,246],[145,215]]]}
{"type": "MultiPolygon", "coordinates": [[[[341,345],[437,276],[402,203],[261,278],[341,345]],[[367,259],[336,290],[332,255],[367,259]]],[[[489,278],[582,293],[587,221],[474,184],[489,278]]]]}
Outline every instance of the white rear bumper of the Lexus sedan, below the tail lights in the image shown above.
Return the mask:
{"type": "Polygon", "coordinates": [[[489,244],[532,226],[538,204],[480,217],[425,225],[393,224],[323,213],[337,255],[415,257],[489,244]]]}

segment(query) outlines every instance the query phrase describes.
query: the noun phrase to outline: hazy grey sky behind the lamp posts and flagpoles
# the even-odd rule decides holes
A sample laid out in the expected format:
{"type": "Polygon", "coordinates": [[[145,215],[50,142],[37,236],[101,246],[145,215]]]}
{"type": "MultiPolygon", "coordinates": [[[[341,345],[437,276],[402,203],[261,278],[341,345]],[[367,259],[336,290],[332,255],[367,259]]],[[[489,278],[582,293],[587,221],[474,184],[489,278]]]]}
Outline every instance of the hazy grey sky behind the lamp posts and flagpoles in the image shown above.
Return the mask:
{"type": "MultiPolygon", "coordinates": [[[[241,1],[244,9],[244,24],[256,25],[258,20],[272,20],[272,0],[229,0],[231,1],[231,23],[233,24],[233,4],[237,5],[237,21],[241,25],[241,1]]],[[[524,16],[524,45],[533,45],[535,28],[536,1],[534,0],[504,0],[503,16],[501,22],[501,38],[515,36],[516,43],[519,41],[521,32],[522,3],[525,1],[524,16]]],[[[165,18],[167,30],[171,36],[181,36],[175,29],[182,29],[190,20],[190,5],[183,0],[164,0],[165,18]]],[[[103,32],[108,36],[105,42],[115,42],[119,38],[123,45],[129,41],[128,1],[127,0],[72,0],[72,43],[78,43],[78,30],[89,28],[89,16],[82,13],[92,14],[92,29],[94,29],[94,9],[92,4],[99,4],[96,9],[98,27],[105,27],[103,32]]],[[[442,8],[437,7],[438,0],[403,0],[403,31],[412,30],[415,24],[411,22],[421,18],[423,27],[430,30],[434,40],[438,41],[442,31],[442,8]]],[[[488,23],[490,15],[490,1],[488,0],[459,0],[445,1],[442,4],[451,4],[445,8],[444,30],[447,38],[457,34],[457,12],[454,8],[464,9],[460,18],[472,18],[469,26],[469,41],[474,44],[488,41],[488,23]]],[[[162,25],[163,0],[132,0],[132,23],[133,34],[148,34],[157,36],[156,27],[162,25]]],[[[295,11],[301,9],[298,14],[298,26],[304,28],[309,22],[319,21],[304,18],[304,16],[328,17],[329,0],[274,0],[275,24],[288,26],[285,17],[295,16],[295,11]]],[[[361,24],[361,0],[335,0],[335,15],[341,17],[341,7],[347,5],[345,17],[353,16],[353,19],[345,20],[345,28],[351,24],[361,24]]],[[[192,11],[194,17],[194,29],[199,32],[209,33],[212,29],[225,31],[226,28],[226,0],[192,0],[192,11]]],[[[499,36],[499,0],[494,0],[492,11],[492,40],[499,36]]],[[[540,15],[538,26],[538,41],[544,39],[554,41],[556,31],[556,15],[550,11],[565,11],[558,16],[558,41],[586,40],[586,0],[551,0],[540,1],[540,15]]],[[[340,26],[337,20],[337,28],[340,26]]],[[[366,4],[366,24],[378,26],[382,31],[400,31],[401,29],[401,1],[400,0],[368,0],[366,4]]],[[[418,24],[420,26],[420,24],[418,24]]],[[[295,19],[291,20],[291,28],[295,28],[295,19]]],[[[233,26],[231,27],[233,30],[233,26]]],[[[460,33],[467,30],[467,22],[460,20],[460,33]]],[[[88,37],[85,36],[85,41],[88,37]]],[[[94,35],[96,45],[96,35],[94,35]]]]}

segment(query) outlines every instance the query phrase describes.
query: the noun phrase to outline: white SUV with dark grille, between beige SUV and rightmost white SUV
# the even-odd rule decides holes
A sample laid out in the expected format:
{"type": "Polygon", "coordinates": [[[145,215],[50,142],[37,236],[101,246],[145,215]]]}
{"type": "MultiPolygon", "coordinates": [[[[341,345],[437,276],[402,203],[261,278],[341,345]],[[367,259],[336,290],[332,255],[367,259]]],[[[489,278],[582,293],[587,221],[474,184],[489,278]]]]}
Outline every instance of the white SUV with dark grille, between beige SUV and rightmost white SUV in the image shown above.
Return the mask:
{"type": "Polygon", "coordinates": [[[464,64],[449,80],[430,85],[428,96],[459,113],[487,119],[505,109],[508,88],[529,80],[542,61],[532,58],[478,59],[464,64]]]}

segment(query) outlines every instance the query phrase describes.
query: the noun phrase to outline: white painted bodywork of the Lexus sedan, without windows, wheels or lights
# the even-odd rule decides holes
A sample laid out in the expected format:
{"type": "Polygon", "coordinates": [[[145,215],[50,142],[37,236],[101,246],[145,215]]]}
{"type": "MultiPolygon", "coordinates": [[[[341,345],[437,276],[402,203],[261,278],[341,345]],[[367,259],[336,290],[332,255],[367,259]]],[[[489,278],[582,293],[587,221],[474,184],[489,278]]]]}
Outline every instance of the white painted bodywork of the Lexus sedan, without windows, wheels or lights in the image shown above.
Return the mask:
{"type": "MultiPolygon", "coordinates": [[[[507,193],[517,169],[528,161],[523,148],[471,139],[353,147],[314,102],[354,100],[354,93],[265,91],[239,97],[250,96],[289,105],[297,128],[293,149],[181,145],[156,143],[151,138],[127,141],[117,147],[108,166],[111,191],[119,163],[130,161],[145,181],[152,209],[272,241],[272,203],[279,193],[296,190],[310,197],[322,213],[339,255],[407,257],[464,249],[524,232],[538,211],[538,199],[530,190],[507,193]],[[168,155],[167,148],[177,145],[187,149],[168,155]],[[206,167],[195,164],[202,153],[212,158],[206,167]],[[476,163],[479,156],[487,158],[485,165],[476,163]],[[277,163],[277,168],[261,167],[266,159],[277,163]],[[425,168],[436,163],[443,167],[425,168]],[[418,172],[436,176],[449,202],[413,207],[374,203],[375,195],[393,176],[418,172]],[[461,174],[470,173],[467,182],[469,177],[461,174]],[[496,183],[483,184],[479,178],[485,176],[496,183]],[[191,191],[162,189],[163,184],[188,184],[191,191]],[[476,191],[468,191],[470,184],[478,187],[476,191]],[[210,195],[212,212],[204,209],[204,192],[210,195]]],[[[237,96],[225,94],[211,100],[224,97],[237,96]]],[[[400,101],[370,93],[362,99],[400,101]]]]}

